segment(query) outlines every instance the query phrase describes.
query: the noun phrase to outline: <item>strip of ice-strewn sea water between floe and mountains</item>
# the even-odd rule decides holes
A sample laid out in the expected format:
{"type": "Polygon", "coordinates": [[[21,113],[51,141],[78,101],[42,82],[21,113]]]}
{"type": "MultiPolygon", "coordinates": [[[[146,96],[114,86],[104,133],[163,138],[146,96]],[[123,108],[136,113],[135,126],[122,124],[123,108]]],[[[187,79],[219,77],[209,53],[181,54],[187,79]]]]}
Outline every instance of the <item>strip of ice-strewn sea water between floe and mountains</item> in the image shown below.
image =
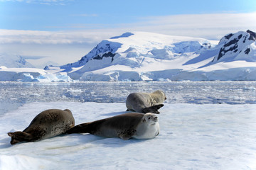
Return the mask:
{"type": "Polygon", "coordinates": [[[166,103],[256,103],[255,81],[0,82],[0,114],[31,102],[120,103],[132,92],[157,89],[166,93],[166,103]]]}

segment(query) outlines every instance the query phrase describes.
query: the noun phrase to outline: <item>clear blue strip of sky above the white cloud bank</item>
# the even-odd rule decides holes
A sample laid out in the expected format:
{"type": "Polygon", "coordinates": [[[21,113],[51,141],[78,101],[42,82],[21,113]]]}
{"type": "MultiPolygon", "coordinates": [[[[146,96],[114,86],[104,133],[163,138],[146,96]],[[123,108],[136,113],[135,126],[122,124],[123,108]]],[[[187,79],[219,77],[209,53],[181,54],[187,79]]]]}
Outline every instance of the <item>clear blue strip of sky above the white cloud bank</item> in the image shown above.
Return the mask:
{"type": "Polygon", "coordinates": [[[118,28],[151,16],[204,13],[250,13],[255,0],[30,0],[0,1],[0,28],[77,30],[118,28]]]}

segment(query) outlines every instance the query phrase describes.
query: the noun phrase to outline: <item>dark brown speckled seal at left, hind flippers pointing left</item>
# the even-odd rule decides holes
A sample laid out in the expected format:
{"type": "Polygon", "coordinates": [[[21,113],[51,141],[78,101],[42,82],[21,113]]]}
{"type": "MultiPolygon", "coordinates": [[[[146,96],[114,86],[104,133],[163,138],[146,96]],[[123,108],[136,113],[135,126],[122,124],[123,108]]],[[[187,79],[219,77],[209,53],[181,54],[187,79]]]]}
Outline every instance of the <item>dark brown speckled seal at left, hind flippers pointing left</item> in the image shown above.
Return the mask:
{"type": "Polygon", "coordinates": [[[28,128],[17,132],[9,132],[11,145],[18,142],[35,142],[63,134],[75,125],[70,110],[49,109],[36,115],[28,128]]]}

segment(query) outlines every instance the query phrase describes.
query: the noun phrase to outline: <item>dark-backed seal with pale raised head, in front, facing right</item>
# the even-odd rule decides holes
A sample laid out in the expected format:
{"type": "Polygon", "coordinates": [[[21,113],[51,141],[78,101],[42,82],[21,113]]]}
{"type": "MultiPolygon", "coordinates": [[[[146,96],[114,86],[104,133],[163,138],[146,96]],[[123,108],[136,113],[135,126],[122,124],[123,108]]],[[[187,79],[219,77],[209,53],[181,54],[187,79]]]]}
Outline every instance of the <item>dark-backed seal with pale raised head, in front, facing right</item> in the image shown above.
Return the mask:
{"type": "Polygon", "coordinates": [[[90,133],[102,137],[120,137],[129,140],[152,139],[159,135],[158,118],[154,113],[124,113],[110,118],[82,123],[67,133],[90,133]]]}

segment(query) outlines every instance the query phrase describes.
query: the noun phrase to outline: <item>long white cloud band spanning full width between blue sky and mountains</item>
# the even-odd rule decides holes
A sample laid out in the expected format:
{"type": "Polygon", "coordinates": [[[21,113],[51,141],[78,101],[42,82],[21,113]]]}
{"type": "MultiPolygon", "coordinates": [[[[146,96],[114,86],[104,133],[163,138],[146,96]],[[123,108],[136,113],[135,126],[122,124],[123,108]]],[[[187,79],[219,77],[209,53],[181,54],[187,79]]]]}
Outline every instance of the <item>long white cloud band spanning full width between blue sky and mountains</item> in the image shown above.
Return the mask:
{"type": "Polygon", "coordinates": [[[97,24],[95,29],[92,26],[87,29],[88,26],[80,25],[75,26],[80,30],[70,31],[0,30],[0,44],[96,43],[132,30],[219,40],[224,35],[239,30],[256,31],[255,18],[256,13],[213,13],[152,16],[141,18],[138,23],[117,24],[112,28],[100,27],[97,24]]]}

